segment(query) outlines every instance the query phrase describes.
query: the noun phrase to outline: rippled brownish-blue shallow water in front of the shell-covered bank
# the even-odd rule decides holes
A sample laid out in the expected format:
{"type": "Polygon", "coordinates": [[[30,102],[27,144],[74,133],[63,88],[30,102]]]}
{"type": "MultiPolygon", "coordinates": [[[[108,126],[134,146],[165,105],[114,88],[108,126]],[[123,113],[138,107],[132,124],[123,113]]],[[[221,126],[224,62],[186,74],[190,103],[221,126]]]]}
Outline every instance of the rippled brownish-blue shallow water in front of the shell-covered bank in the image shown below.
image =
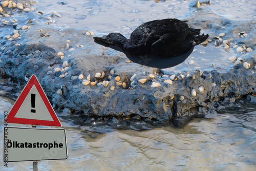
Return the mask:
{"type": "MultiPolygon", "coordinates": [[[[0,97],[0,136],[4,111],[13,100],[0,97]]],[[[40,161],[39,170],[255,170],[256,106],[224,112],[214,118],[196,118],[182,129],[160,127],[147,131],[90,132],[57,113],[67,131],[67,160],[40,161]],[[254,112],[251,112],[254,111],[254,112]]],[[[8,124],[14,126],[15,124],[8,124]]],[[[15,125],[23,126],[23,125],[15,125]]],[[[30,126],[28,126],[30,127],[30,126]]],[[[3,156],[3,141],[0,142],[3,156]]],[[[32,169],[33,162],[12,162],[1,170],[32,169]]]]}

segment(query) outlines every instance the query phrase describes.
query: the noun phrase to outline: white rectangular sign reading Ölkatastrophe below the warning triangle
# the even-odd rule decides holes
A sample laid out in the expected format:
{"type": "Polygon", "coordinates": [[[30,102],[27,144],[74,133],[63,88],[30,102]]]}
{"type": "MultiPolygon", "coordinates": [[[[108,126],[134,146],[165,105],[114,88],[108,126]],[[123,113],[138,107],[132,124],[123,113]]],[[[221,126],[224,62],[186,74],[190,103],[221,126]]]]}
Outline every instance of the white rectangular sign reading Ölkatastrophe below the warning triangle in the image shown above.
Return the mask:
{"type": "Polygon", "coordinates": [[[4,162],[67,158],[65,129],[4,128],[4,162]]]}

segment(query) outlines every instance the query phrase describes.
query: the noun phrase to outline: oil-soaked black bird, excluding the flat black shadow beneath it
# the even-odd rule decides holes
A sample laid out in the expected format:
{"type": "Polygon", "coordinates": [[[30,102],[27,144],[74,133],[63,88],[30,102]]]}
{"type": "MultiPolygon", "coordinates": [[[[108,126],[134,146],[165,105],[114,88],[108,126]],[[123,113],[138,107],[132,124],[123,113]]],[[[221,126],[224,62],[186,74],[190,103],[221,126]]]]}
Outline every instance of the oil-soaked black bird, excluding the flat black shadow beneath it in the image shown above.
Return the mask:
{"type": "Polygon", "coordinates": [[[209,35],[200,35],[200,29],[192,29],[175,18],[153,20],[135,29],[130,39],[120,33],[110,33],[94,40],[106,45],[122,48],[131,55],[155,53],[164,57],[172,57],[184,53],[195,45],[205,41],[209,35]]]}

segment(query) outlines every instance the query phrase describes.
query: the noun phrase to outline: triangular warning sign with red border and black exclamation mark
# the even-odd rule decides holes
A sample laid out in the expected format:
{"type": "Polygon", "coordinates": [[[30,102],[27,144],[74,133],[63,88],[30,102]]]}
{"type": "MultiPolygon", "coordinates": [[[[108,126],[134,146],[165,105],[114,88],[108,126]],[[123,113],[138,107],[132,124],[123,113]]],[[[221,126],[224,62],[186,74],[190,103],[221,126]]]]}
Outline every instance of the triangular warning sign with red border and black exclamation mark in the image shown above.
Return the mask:
{"type": "Polygon", "coordinates": [[[35,75],[29,79],[12,106],[8,123],[56,126],[61,123],[35,75]]]}

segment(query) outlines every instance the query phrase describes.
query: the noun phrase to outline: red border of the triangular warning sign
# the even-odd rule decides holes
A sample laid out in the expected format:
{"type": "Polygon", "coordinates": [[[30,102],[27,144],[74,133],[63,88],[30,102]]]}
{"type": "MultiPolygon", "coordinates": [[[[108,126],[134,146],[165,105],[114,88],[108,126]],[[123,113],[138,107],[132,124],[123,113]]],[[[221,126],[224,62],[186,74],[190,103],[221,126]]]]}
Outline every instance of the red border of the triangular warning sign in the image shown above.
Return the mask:
{"type": "Polygon", "coordinates": [[[9,112],[8,116],[8,123],[18,123],[18,124],[29,124],[29,125],[40,125],[40,126],[55,126],[55,127],[61,127],[61,123],[59,122],[59,119],[54,112],[52,105],[50,104],[44,90],[42,90],[42,87],[37,80],[35,75],[32,75],[29,79],[28,83],[26,84],[25,88],[23,89],[22,93],[20,93],[18,99],[12,106],[11,111],[9,112]],[[29,118],[16,118],[15,115],[17,114],[20,106],[23,104],[24,100],[29,94],[29,91],[32,89],[33,85],[35,85],[38,93],[40,94],[42,100],[44,101],[49,113],[51,114],[53,121],[48,120],[38,120],[38,119],[29,119],[29,118]]]}

